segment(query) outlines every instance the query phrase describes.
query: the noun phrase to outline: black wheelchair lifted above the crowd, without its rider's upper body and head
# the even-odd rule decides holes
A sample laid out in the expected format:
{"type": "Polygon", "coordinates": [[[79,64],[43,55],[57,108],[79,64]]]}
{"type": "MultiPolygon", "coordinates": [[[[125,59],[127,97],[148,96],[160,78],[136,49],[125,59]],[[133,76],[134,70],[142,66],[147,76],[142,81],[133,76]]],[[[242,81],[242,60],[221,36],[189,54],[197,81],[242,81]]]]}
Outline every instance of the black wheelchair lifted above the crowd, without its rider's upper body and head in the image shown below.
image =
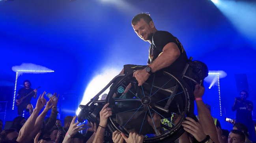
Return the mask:
{"type": "MultiPolygon", "coordinates": [[[[194,119],[193,88],[208,75],[207,66],[189,58],[180,77],[159,71],[138,86],[133,73],[116,76],[86,105],[80,105],[78,121],[88,120],[99,125],[99,112],[105,103],[112,109],[107,131],[115,130],[129,136],[136,132],[145,143],[172,142],[184,132],[181,126],[186,116],[194,119]],[[99,96],[110,87],[106,100],[99,96]]],[[[108,139],[111,142],[112,136],[108,139]]]]}

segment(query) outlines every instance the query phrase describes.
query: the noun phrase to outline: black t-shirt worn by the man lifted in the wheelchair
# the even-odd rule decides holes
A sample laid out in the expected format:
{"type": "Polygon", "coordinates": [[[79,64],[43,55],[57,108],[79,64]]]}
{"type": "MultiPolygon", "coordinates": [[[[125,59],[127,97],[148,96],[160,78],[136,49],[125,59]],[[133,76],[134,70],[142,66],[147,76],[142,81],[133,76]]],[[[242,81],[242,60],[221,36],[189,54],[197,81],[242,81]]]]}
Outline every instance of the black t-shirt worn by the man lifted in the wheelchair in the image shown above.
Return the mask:
{"type": "Polygon", "coordinates": [[[157,31],[153,35],[152,43],[149,47],[148,64],[152,63],[159,56],[159,54],[163,52],[164,46],[170,42],[176,43],[180,51],[180,56],[174,63],[172,63],[172,65],[164,68],[163,70],[170,72],[176,76],[180,76],[188,60],[187,54],[183,49],[183,46],[179,42],[178,38],[174,37],[171,33],[167,31],[157,31]]]}

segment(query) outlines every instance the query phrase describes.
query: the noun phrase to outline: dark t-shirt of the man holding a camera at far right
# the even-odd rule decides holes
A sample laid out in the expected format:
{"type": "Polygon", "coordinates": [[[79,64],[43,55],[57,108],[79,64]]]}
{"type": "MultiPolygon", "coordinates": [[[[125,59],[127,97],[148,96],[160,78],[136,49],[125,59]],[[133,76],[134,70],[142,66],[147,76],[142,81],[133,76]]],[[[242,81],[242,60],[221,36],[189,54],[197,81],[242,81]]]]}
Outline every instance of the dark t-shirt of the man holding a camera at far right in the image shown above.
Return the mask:
{"type": "Polygon", "coordinates": [[[246,103],[247,105],[252,105],[252,101],[245,100],[244,102],[238,102],[235,105],[236,109],[236,122],[243,123],[247,125],[248,122],[252,121],[252,111],[249,111],[246,109],[246,103]]]}

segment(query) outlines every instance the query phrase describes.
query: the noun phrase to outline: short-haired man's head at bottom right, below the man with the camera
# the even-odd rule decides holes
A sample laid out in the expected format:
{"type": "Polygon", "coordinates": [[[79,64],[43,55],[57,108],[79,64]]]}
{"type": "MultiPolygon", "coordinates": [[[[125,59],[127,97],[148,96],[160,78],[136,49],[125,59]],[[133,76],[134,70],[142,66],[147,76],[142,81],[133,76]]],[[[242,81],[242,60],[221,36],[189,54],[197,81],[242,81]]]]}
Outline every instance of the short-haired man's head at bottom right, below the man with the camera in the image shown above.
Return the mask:
{"type": "Polygon", "coordinates": [[[245,134],[240,130],[231,130],[228,135],[228,143],[244,143],[245,134]]]}

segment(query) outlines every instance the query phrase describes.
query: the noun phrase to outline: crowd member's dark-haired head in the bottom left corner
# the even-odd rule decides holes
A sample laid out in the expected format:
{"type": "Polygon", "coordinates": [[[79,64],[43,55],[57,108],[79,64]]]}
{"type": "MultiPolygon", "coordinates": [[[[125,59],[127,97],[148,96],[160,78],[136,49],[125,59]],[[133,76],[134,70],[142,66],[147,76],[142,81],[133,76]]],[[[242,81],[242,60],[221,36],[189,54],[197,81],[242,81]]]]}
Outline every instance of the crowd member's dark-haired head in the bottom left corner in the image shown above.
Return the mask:
{"type": "Polygon", "coordinates": [[[15,129],[11,128],[7,130],[3,130],[0,133],[0,143],[4,141],[16,141],[18,136],[19,136],[19,133],[15,129]]]}

